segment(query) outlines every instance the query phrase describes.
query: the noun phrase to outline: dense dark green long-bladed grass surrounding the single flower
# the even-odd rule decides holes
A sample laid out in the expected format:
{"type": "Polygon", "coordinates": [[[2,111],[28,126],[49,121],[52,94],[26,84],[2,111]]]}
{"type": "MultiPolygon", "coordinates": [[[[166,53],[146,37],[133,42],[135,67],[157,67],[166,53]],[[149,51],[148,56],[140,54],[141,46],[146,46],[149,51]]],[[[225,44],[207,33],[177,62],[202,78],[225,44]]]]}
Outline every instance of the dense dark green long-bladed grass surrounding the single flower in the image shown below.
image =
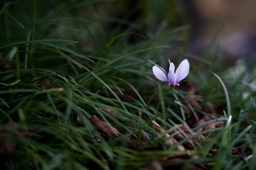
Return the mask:
{"type": "Polygon", "coordinates": [[[145,38],[134,34],[145,23],[135,21],[121,30],[118,20],[109,33],[105,22],[112,18],[100,16],[98,2],[1,2],[1,166],[142,169],[153,162],[156,168],[200,163],[213,169],[254,169],[255,63],[239,61],[220,69],[217,64],[223,61],[218,58],[220,62],[204,70],[214,56],[208,51],[203,59],[193,56],[186,79],[196,84],[192,87],[197,93],[190,93],[186,82],[172,90],[166,85],[146,106],[161,85],[148,60],[181,60],[182,50],[170,51],[168,44],[183,40],[179,33],[188,27],[161,28],[145,38]],[[87,18],[83,8],[93,9],[97,17],[87,18]],[[141,41],[131,43],[129,38],[135,36],[141,41]],[[214,119],[189,130],[220,120],[223,125],[169,145],[177,134],[171,132],[181,128],[175,125],[209,115],[206,105],[216,110],[210,114],[214,119]],[[101,123],[93,122],[93,115],[101,123]],[[164,132],[159,133],[152,121],[164,132]],[[103,124],[122,135],[111,136],[103,124]],[[211,131],[215,133],[207,136],[210,141],[198,140],[211,131]],[[193,150],[186,146],[191,140],[198,142],[193,150]],[[185,150],[177,149],[181,145],[185,150]],[[243,151],[232,155],[232,149],[242,145],[243,151]],[[168,161],[170,155],[178,161],[168,161]]]}

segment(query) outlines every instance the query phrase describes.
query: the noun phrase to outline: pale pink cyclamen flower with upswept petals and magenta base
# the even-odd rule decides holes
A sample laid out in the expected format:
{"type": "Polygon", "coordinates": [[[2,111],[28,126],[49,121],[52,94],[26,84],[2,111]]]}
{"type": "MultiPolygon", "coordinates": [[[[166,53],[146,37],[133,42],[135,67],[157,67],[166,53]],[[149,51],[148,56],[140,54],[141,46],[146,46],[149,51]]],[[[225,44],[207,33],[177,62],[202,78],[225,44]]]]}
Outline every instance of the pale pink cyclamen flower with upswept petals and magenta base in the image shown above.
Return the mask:
{"type": "Polygon", "coordinates": [[[157,66],[153,66],[153,73],[155,74],[156,78],[168,83],[168,86],[179,86],[179,81],[183,80],[189,71],[189,63],[188,60],[183,60],[179,67],[177,68],[176,72],[174,73],[175,66],[172,62],[170,62],[169,72],[166,74],[164,69],[162,70],[157,66]],[[163,72],[164,71],[164,72],[163,72]]]}

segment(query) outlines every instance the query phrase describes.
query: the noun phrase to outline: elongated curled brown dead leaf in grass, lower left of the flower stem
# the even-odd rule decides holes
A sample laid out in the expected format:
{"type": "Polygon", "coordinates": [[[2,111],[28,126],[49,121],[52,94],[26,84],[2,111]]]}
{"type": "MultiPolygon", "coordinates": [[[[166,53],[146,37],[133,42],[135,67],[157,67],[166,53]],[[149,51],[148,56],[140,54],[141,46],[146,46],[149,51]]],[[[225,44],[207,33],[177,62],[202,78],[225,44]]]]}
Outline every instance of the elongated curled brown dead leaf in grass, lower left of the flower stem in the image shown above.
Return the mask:
{"type": "Polygon", "coordinates": [[[119,137],[119,136],[123,136],[124,134],[120,133],[115,127],[112,127],[114,129],[114,131],[112,130],[112,128],[104,121],[101,121],[98,119],[98,117],[96,117],[95,115],[93,115],[90,118],[91,122],[98,128],[98,130],[103,131],[105,134],[112,136],[112,137],[119,137]]]}

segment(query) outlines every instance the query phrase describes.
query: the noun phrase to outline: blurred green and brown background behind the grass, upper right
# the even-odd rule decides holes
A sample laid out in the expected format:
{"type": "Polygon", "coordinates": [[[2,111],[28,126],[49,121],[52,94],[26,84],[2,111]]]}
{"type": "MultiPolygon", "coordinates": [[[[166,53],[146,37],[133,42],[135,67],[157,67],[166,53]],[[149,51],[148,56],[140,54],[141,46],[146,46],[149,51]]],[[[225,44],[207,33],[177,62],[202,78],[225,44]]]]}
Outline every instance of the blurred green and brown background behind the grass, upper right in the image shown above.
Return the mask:
{"type": "MultiPolygon", "coordinates": [[[[132,25],[131,32],[145,37],[160,34],[165,29],[188,25],[179,32],[185,51],[202,55],[217,35],[215,46],[223,51],[223,57],[254,59],[256,43],[256,1],[216,0],[117,0],[98,3],[99,14],[112,32],[116,22],[123,23],[120,32],[132,25]]],[[[88,7],[88,6],[87,6],[88,7]]],[[[86,17],[92,8],[82,9],[86,17]]],[[[95,29],[97,31],[97,29],[95,29]]],[[[133,36],[129,41],[138,42],[142,37],[133,36]]],[[[176,50],[181,42],[175,41],[170,50],[176,50]]],[[[214,48],[212,49],[214,50],[214,48]]]]}

